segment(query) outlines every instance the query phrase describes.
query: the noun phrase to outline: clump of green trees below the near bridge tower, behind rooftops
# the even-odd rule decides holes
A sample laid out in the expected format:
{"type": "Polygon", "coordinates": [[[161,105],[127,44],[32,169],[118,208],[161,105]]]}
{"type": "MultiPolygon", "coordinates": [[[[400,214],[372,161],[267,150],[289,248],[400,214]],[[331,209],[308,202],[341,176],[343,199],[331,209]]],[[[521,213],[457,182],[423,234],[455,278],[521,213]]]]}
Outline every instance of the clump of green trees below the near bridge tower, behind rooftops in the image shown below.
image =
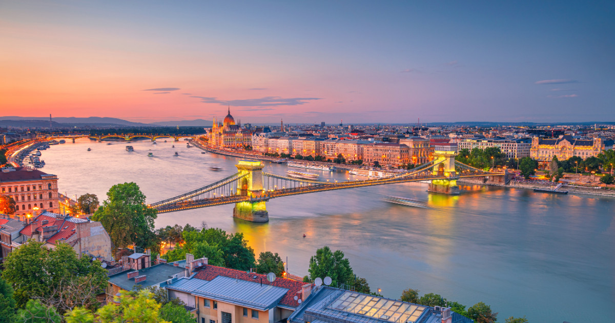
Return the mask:
{"type": "Polygon", "coordinates": [[[183,231],[183,240],[184,245],[165,254],[167,261],[185,259],[186,253],[192,253],[195,258],[207,257],[208,263],[214,266],[240,270],[254,267],[254,250],[242,233],[226,234],[222,229],[208,228],[183,231]]]}

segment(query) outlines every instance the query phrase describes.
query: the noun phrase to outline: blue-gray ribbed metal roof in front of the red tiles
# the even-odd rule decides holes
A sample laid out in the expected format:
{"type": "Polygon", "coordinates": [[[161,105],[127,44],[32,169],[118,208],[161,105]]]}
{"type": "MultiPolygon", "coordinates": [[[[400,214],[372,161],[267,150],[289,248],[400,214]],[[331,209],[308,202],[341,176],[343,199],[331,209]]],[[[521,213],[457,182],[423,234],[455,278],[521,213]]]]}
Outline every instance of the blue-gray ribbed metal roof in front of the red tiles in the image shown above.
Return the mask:
{"type": "Polygon", "coordinates": [[[287,292],[288,289],[282,287],[218,276],[193,290],[192,294],[266,311],[277,306],[287,292]]]}

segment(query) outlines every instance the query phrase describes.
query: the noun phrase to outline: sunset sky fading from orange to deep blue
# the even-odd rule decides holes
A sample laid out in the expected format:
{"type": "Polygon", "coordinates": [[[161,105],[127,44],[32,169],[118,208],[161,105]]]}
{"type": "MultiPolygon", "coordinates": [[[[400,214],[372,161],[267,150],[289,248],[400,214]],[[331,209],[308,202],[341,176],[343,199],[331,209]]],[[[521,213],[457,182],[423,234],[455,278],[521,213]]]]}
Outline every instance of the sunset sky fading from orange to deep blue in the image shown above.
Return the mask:
{"type": "Polygon", "coordinates": [[[0,116],[615,121],[614,1],[1,1],[0,116]]]}

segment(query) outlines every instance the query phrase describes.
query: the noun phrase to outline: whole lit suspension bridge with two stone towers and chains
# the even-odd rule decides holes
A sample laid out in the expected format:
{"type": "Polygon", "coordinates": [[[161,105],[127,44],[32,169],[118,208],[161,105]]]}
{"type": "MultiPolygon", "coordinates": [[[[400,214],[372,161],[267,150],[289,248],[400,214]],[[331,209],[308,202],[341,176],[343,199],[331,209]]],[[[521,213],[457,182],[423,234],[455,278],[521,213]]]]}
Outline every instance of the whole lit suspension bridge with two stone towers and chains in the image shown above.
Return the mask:
{"type": "Polygon", "coordinates": [[[158,213],[166,213],[234,203],[233,217],[266,222],[269,221],[266,202],[275,197],[411,181],[431,181],[428,189],[431,192],[459,194],[456,183],[459,178],[506,175],[506,172],[488,172],[462,164],[454,160],[455,156],[455,151],[435,151],[434,160],[415,169],[391,177],[357,181],[286,177],[263,172],[264,165],[260,161],[239,161],[236,165],[237,173],[194,191],[153,203],[149,207],[158,213]]]}

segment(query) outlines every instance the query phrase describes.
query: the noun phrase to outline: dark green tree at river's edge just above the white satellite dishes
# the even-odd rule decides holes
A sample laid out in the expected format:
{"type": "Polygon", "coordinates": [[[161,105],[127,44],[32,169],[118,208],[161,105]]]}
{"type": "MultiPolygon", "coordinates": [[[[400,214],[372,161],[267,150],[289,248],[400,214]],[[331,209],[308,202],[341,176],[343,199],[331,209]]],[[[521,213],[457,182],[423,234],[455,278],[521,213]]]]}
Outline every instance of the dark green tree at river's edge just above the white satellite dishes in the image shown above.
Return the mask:
{"type": "Polygon", "coordinates": [[[326,245],[316,250],[316,255],[310,258],[308,272],[312,281],[317,277],[331,277],[332,286],[337,286],[338,283],[344,284],[354,276],[350,261],[344,258],[344,252],[341,250],[331,252],[326,245]]]}

